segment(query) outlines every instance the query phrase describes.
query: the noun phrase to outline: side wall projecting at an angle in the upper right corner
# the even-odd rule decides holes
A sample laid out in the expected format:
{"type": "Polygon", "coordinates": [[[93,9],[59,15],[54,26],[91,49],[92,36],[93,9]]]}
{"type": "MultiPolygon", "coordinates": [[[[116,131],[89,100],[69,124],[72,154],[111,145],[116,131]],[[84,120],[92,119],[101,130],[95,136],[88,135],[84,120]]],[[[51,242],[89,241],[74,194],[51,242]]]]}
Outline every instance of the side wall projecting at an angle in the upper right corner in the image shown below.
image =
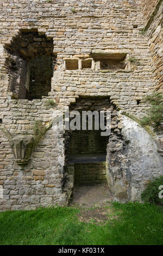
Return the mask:
{"type": "Polygon", "coordinates": [[[156,79],[156,90],[163,92],[163,29],[161,0],[141,1],[143,17],[145,19],[145,36],[149,38],[149,50],[151,51],[153,72],[156,79]]]}

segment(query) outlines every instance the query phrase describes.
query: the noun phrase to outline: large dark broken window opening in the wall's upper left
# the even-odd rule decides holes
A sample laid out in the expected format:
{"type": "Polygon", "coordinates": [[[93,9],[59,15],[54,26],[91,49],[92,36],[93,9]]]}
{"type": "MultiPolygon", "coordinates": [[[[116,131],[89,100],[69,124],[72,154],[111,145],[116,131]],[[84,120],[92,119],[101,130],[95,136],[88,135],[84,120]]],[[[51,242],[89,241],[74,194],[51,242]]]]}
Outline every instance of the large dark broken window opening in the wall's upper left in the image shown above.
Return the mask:
{"type": "Polygon", "coordinates": [[[20,99],[40,99],[51,91],[53,40],[37,31],[21,32],[6,46],[9,91],[20,99]]]}

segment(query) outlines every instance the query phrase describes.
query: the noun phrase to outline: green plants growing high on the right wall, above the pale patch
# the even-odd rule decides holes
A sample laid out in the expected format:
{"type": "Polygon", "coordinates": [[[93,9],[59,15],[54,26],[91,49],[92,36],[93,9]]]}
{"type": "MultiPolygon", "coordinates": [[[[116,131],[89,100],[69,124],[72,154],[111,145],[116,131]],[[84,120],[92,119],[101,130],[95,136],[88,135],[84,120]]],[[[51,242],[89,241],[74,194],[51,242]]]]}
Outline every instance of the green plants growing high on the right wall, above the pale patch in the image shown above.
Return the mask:
{"type": "Polygon", "coordinates": [[[163,121],[163,97],[160,93],[154,92],[150,96],[143,98],[142,102],[150,105],[146,111],[147,115],[141,119],[142,126],[152,126],[154,129],[158,129],[163,121]]]}

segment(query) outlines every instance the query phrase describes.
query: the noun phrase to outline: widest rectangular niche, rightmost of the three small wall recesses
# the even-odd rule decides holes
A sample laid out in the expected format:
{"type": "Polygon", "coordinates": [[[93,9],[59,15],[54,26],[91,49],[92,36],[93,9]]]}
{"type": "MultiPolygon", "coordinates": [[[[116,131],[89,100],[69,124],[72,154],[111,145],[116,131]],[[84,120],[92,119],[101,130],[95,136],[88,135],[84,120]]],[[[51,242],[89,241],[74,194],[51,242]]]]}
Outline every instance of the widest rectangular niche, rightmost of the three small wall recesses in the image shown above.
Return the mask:
{"type": "Polygon", "coordinates": [[[92,50],[96,69],[119,70],[126,69],[127,52],[118,50],[92,50]]]}

